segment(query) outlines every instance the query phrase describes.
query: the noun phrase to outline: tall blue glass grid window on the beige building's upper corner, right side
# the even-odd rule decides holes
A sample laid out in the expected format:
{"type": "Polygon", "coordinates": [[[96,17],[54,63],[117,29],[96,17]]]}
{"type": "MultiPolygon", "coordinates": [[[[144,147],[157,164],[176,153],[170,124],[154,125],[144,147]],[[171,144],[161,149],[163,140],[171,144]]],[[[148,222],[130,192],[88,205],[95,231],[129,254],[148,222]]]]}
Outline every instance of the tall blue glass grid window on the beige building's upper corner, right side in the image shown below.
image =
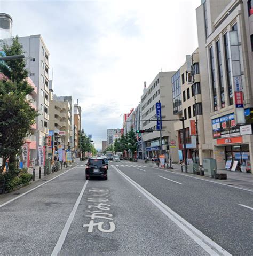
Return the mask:
{"type": "Polygon", "coordinates": [[[171,77],[171,83],[172,83],[173,114],[176,115],[182,111],[180,71],[177,71],[171,77]]]}

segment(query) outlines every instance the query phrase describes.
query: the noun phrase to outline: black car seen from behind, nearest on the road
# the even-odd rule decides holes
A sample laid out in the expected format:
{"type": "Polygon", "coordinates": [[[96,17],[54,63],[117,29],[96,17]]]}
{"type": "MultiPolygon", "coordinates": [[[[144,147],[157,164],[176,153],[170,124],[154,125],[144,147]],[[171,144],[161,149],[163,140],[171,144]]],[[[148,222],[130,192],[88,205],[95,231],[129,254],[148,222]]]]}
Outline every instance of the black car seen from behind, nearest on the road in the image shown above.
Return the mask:
{"type": "Polygon", "coordinates": [[[104,158],[91,158],[88,160],[85,168],[85,177],[88,180],[90,177],[102,177],[105,180],[107,177],[107,165],[104,158]]]}

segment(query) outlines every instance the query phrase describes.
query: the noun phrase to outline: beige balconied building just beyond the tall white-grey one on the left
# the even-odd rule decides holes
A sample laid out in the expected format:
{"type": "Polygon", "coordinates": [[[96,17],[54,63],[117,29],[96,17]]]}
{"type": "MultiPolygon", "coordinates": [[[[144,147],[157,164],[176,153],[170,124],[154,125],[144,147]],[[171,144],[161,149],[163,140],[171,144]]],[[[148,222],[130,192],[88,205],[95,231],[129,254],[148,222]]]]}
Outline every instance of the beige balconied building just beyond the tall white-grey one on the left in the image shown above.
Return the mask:
{"type": "Polygon", "coordinates": [[[64,145],[65,149],[70,148],[71,136],[70,103],[64,100],[57,100],[57,96],[50,89],[49,105],[49,130],[54,131],[54,146],[64,145]]]}

